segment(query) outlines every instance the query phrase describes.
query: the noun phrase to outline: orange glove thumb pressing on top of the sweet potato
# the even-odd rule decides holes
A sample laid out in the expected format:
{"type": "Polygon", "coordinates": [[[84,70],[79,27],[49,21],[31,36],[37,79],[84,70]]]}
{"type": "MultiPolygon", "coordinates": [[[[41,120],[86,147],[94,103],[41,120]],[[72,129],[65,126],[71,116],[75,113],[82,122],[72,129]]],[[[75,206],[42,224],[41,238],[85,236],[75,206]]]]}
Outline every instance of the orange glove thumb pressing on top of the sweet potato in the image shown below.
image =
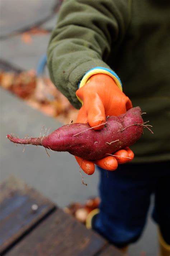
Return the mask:
{"type": "MultiPolygon", "coordinates": [[[[88,107],[88,122],[91,127],[103,124],[106,121],[105,109],[103,102],[98,94],[93,97],[93,104],[89,104],[88,107]]],[[[100,130],[104,125],[95,127],[94,130],[100,130]]]]}

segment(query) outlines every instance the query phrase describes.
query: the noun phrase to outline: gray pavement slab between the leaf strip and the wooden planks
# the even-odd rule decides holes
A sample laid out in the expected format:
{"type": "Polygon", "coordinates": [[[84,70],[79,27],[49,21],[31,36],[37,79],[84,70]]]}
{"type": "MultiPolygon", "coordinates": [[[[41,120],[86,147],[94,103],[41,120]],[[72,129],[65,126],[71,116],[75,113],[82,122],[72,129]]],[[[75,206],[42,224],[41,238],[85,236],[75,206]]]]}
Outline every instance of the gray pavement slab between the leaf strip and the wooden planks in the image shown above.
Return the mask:
{"type": "MultiPolygon", "coordinates": [[[[62,124],[27,106],[18,99],[0,89],[1,99],[1,173],[4,180],[15,175],[35,187],[55,201],[60,207],[72,201],[84,201],[89,196],[97,195],[98,172],[93,176],[84,174],[88,186],[81,184],[79,167],[72,155],[65,152],[51,152],[48,157],[41,146],[23,146],[11,143],[7,134],[39,137],[43,125],[56,130],[62,124]]],[[[47,133],[47,132],[46,132],[47,133]]],[[[43,135],[43,131],[42,131],[43,135]]]]}

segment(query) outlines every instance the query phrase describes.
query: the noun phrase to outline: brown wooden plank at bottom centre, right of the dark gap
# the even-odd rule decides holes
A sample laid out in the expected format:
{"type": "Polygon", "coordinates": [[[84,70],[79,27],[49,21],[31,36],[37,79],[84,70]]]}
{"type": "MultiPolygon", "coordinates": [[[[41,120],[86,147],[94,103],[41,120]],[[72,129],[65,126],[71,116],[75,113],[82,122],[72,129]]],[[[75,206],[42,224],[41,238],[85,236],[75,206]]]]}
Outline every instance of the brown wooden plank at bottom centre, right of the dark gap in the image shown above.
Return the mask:
{"type": "Polygon", "coordinates": [[[93,256],[105,245],[98,234],[57,209],[6,256],[93,256]]]}

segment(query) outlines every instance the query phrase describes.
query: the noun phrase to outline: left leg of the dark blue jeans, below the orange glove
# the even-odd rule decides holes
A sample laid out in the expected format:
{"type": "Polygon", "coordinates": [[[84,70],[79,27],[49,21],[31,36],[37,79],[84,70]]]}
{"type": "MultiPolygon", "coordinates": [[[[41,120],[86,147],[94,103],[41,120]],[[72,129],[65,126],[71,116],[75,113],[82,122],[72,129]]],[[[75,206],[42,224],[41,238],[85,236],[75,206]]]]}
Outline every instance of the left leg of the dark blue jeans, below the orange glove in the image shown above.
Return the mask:
{"type": "Polygon", "coordinates": [[[136,241],[146,222],[155,181],[142,174],[143,168],[139,164],[123,164],[113,172],[100,168],[100,213],[93,228],[118,247],[136,241]]]}

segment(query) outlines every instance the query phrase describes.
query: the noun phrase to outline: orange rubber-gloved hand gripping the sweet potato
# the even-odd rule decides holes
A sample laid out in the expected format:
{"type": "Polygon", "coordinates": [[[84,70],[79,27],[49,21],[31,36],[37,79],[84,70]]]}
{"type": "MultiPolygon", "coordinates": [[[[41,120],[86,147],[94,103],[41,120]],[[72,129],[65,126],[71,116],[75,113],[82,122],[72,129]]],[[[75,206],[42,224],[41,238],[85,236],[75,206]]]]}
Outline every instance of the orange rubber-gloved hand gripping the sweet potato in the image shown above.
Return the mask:
{"type": "MultiPolygon", "coordinates": [[[[83,102],[80,108],[77,122],[89,123],[94,130],[103,128],[107,116],[119,116],[132,108],[130,99],[118,88],[113,78],[105,74],[92,75],[88,82],[76,91],[76,95],[83,102]]],[[[93,174],[94,164],[101,168],[113,171],[118,163],[126,163],[132,160],[134,154],[131,149],[125,148],[99,160],[90,161],[75,157],[82,170],[87,174],[93,174]]]]}

